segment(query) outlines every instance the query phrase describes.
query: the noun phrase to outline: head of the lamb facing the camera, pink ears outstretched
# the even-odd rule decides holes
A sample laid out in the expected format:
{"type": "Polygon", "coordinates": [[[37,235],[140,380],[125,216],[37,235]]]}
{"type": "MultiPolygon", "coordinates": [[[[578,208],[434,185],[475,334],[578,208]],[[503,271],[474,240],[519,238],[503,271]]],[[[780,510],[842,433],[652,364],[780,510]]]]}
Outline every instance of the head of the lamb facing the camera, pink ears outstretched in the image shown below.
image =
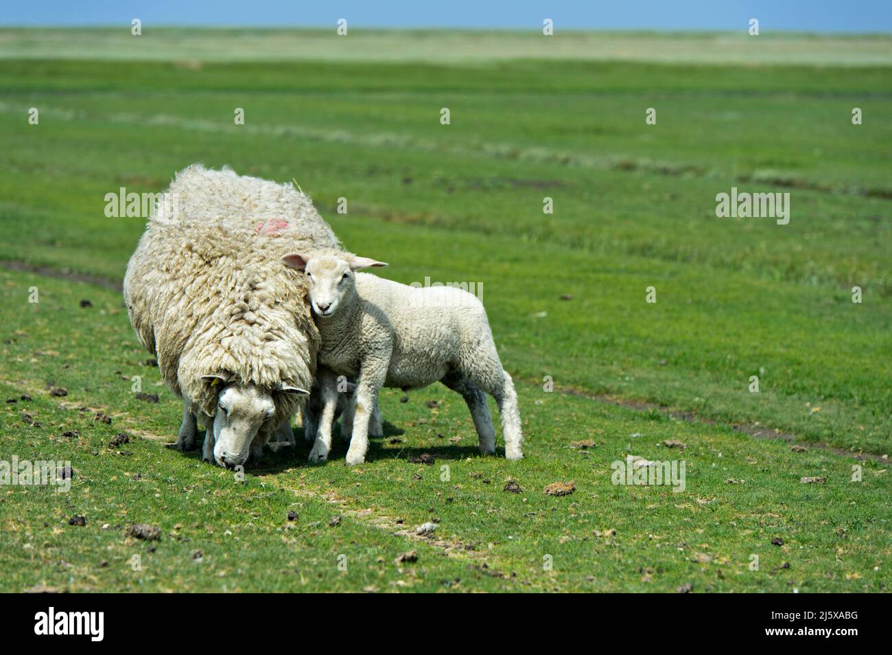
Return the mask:
{"type": "Polygon", "coordinates": [[[310,285],[310,304],[317,316],[331,316],[351,302],[356,294],[357,269],[387,266],[384,261],[358,257],[350,253],[286,254],[286,266],[302,270],[310,285]]]}

